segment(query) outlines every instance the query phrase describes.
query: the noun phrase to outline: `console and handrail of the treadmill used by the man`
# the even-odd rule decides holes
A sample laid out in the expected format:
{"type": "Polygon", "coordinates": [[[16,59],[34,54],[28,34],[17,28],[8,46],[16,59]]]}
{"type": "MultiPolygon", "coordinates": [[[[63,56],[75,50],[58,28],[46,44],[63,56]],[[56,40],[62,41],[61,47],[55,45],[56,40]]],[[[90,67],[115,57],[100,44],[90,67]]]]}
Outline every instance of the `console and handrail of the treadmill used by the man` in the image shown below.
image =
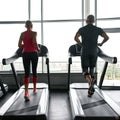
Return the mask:
{"type": "MultiPolygon", "coordinates": [[[[68,50],[70,57],[81,56],[81,46],[79,44],[74,44],[69,47],[68,50]]],[[[105,62],[109,62],[111,64],[117,63],[117,57],[111,57],[106,55],[99,47],[98,47],[98,57],[102,58],[105,62]]]]}

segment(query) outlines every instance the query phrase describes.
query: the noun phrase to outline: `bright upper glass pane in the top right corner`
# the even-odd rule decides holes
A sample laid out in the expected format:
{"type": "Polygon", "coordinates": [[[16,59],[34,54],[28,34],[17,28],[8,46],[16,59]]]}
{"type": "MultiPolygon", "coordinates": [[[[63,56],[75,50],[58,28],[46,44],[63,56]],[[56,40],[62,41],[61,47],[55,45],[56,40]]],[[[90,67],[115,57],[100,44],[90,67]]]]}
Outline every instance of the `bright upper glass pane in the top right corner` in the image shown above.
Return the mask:
{"type": "Polygon", "coordinates": [[[97,0],[97,17],[113,18],[120,16],[120,0],[97,0]]]}

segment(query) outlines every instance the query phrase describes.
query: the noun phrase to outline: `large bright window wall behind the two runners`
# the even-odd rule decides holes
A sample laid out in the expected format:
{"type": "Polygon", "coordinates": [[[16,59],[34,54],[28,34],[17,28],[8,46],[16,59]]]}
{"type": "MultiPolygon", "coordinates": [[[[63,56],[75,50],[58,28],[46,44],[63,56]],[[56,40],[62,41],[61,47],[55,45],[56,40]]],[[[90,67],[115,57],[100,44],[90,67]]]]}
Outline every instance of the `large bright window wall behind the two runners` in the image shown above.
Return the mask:
{"type": "MultiPolygon", "coordinates": [[[[116,56],[119,64],[119,4],[120,0],[0,0],[0,61],[14,54],[18,48],[19,35],[25,30],[24,23],[30,19],[33,22],[33,30],[38,33],[38,43],[48,47],[50,72],[67,72],[68,49],[76,44],[74,36],[77,30],[85,25],[85,16],[94,14],[95,25],[107,29],[110,37],[101,49],[110,56],[116,56]]],[[[100,40],[102,39],[99,38],[100,40]]],[[[98,62],[99,69],[104,61],[99,59],[98,62]]],[[[23,70],[22,59],[17,60],[15,64],[17,70],[23,70]]],[[[45,62],[40,58],[38,71],[46,72],[44,66],[45,62]]],[[[10,68],[3,67],[1,63],[0,70],[10,68]]],[[[72,72],[81,72],[80,58],[74,58],[72,72]]],[[[106,79],[108,78],[111,79],[106,79]]]]}

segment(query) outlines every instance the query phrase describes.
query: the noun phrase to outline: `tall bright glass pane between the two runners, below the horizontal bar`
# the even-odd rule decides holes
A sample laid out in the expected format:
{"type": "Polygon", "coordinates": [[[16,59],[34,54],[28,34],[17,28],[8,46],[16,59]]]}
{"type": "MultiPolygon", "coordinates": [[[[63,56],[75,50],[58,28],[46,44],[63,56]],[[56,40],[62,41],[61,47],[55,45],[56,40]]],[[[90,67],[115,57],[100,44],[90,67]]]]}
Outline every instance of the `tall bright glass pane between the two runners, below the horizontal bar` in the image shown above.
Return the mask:
{"type": "Polygon", "coordinates": [[[52,72],[67,71],[68,49],[76,44],[74,36],[80,26],[79,22],[44,24],[44,44],[49,50],[52,72]]]}

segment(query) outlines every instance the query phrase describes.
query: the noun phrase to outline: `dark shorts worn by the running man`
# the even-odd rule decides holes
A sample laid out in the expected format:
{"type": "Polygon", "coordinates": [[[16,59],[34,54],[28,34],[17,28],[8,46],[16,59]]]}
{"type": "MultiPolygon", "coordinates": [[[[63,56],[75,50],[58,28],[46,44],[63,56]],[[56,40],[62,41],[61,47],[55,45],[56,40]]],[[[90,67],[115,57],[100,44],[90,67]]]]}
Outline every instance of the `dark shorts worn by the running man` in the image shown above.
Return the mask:
{"type": "Polygon", "coordinates": [[[81,55],[82,68],[95,67],[97,55],[81,55]]]}

